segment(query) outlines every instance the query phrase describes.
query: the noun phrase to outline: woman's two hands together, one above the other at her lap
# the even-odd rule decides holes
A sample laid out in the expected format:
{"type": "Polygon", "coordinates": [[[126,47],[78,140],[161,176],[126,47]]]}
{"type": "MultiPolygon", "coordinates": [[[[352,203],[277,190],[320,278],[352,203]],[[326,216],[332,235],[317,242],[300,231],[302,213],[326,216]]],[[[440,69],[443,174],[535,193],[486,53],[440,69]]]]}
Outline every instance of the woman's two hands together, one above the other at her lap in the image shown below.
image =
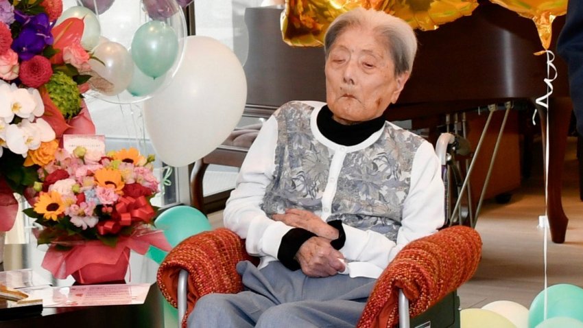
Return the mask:
{"type": "Polygon", "coordinates": [[[333,226],[326,224],[318,215],[303,209],[287,209],[285,213],[274,214],[272,218],[316,235],[302,244],[296,253],[296,260],[308,277],[329,277],[344,271],[344,255],[330,244],[339,234],[333,226]]]}

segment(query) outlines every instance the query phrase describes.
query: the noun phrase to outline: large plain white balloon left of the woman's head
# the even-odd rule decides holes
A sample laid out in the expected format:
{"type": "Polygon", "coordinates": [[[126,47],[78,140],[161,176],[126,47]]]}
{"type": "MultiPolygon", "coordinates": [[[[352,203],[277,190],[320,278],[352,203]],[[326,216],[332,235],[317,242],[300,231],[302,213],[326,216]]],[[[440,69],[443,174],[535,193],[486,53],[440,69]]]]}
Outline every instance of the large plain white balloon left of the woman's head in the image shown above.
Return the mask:
{"type": "Polygon", "coordinates": [[[176,167],[217,148],[237,126],[247,98],[243,67],[225,45],[188,36],[184,56],[169,86],[143,106],[156,155],[176,167]]]}

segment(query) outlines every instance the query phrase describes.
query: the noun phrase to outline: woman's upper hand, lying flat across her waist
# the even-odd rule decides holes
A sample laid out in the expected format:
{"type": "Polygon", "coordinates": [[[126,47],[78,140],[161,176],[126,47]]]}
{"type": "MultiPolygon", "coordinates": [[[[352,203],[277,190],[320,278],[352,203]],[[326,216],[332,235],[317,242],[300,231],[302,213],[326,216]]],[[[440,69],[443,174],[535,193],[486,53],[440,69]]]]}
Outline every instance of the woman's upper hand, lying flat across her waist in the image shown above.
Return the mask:
{"type": "Polygon", "coordinates": [[[274,214],[273,220],[281,221],[294,228],[302,228],[319,237],[334,240],[338,238],[338,230],[326,224],[318,215],[304,209],[287,209],[283,214],[274,214]]]}

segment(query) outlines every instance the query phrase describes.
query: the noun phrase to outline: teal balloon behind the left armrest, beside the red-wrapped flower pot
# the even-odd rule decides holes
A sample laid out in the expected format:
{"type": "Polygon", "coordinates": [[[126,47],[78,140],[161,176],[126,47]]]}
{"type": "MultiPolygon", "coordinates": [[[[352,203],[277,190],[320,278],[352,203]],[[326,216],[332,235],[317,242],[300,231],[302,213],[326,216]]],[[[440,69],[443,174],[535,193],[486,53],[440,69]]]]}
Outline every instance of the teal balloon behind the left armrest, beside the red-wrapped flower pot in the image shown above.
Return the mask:
{"type": "MultiPolygon", "coordinates": [[[[157,229],[164,231],[166,239],[173,247],[191,235],[213,229],[206,215],[189,206],[176,206],[167,209],[158,215],[154,225],[157,229]]],[[[160,248],[150,246],[146,256],[156,261],[156,263],[162,263],[166,254],[167,252],[160,250],[160,248]]]]}

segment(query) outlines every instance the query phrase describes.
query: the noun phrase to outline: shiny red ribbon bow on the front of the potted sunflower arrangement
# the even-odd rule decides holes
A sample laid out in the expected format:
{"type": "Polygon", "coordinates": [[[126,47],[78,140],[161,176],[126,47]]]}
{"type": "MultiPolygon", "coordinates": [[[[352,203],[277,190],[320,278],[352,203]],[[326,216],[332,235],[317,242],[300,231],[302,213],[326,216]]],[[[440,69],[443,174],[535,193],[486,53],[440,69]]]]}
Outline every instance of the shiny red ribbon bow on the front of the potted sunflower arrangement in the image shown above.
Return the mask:
{"type": "Polygon", "coordinates": [[[115,204],[115,211],[110,220],[101,221],[97,224],[99,235],[106,233],[116,234],[122,226],[130,226],[132,222],[143,221],[149,223],[154,218],[154,209],[144,196],[138,198],[121,197],[115,204]]]}

